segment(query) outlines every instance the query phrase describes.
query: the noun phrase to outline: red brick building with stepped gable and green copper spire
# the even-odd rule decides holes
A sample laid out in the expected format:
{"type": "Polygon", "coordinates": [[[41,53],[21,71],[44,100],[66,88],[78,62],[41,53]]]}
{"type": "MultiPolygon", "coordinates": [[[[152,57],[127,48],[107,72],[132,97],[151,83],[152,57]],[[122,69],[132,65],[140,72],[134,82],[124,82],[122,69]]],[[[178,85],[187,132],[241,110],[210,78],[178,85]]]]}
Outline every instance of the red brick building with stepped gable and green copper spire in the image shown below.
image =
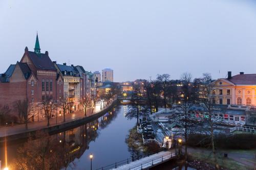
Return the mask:
{"type": "Polygon", "coordinates": [[[34,52],[26,47],[20,62],[11,64],[5,74],[0,77],[0,103],[15,114],[14,103],[17,100],[28,100],[35,106],[37,105],[35,117],[32,120],[44,119],[44,112],[39,107],[42,100],[57,101],[63,94],[63,91],[60,91],[62,80],[57,76],[57,70],[49,53],[47,51],[41,53],[40,50],[36,35],[34,52]],[[59,90],[58,93],[57,90],[59,90]]]}

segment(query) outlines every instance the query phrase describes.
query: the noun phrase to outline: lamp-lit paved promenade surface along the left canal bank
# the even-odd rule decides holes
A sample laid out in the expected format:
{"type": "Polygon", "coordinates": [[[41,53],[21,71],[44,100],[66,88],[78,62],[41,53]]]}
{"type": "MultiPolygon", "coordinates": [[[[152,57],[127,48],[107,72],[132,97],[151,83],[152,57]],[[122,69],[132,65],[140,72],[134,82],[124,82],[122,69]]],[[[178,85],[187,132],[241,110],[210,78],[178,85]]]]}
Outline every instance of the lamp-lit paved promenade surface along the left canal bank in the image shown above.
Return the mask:
{"type": "MultiPolygon", "coordinates": [[[[109,105],[105,106],[101,110],[100,109],[94,109],[93,113],[92,113],[93,108],[92,107],[88,108],[87,109],[87,117],[91,116],[93,114],[96,114],[100,111],[103,111],[106,108],[109,108],[109,106],[114,101],[115,100],[110,102],[109,105]]],[[[63,118],[64,118],[63,116],[57,117],[57,124],[56,124],[56,117],[51,118],[49,127],[62,124],[63,123],[63,118]]],[[[82,111],[82,110],[76,111],[74,113],[69,113],[69,114],[66,113],[66,122],[65,123],[72,122],[74,120],[81,119],[81,118],[84,118],[84,111],[82,111]]],[[[44,129],[44,128],[47,128],[47,119],[41,120],[39,122],[30,122],[30,123],[28,123],[28,129],[27,130],[26,130],[26,125],[25,124],[2,127],[2,128],[0,128],[0,137],[15,135],[15,134],[19,134],[19,133],[25,133],[25,132],[31,132],[31,131],[35,131],[35,130],[44,129]]]]}

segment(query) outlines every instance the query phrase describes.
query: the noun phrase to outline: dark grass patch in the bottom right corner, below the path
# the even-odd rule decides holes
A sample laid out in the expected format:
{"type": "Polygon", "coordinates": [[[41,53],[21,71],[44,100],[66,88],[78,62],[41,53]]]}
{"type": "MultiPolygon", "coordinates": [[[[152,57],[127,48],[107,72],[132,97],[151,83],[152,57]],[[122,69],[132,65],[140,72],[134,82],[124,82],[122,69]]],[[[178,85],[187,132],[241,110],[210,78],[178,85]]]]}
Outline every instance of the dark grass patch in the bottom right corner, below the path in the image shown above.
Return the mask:
{"type": "MultiPolygon", "coordinates": [[[[202,152],[194,152],[193,154],[189,155],[189,158],[195,160],[201,160],[210,164],[214,164],[214,159],[212,158],[212,155],[202,152]]],[[[217,155],[218,163],[221,167],[226,169],[236,169],[236,170],[246,170],[251,169],[249,167],[246,167],[244,164],[241,164],[233,159],[230,158],[223,158],[223,155],[217,155]]]]}

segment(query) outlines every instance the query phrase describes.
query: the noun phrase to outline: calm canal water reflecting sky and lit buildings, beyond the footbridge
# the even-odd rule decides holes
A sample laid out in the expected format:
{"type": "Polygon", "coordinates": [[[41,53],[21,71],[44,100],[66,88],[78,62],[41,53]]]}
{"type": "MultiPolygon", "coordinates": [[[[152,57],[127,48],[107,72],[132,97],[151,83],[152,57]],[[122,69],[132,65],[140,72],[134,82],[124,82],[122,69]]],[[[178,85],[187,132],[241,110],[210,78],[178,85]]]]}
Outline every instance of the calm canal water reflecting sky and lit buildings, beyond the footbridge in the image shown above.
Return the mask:
{"type": "MultiPolygon", "coordinates": [[[[91,168],[90,154],[93,154],[92,169],[115,163],[131,157],[125,138],[136,125],[136,119],[127,119],[128,106],[113,107],[98,119],[80,127],[52,134],[54,143],[69,145],[68,166],[62,169],[84,170],[91,168]]],[[[40,140],[40,139],[37,139],[40,140]]],[[[17,150],[26,142],[19,140],[7,143],[8,165],[15,162],[17,150]]],[[[0,146],[0,160],[5,160],[4,143],[0,146]]],[[[2,165],[4,161],[2,161],[2,165]]]]}

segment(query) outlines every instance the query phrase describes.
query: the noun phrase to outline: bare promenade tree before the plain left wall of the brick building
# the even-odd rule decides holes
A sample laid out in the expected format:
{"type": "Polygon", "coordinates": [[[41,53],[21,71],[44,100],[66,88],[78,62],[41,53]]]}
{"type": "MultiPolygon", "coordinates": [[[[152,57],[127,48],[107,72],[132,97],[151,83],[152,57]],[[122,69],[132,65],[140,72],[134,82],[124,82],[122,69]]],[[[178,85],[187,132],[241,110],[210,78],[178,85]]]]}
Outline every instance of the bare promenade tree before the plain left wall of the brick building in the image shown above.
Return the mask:
{"type": "Polygon", "coordinates": [[[28,100],[17,100],[14,102],[14,108],[20,115],[20,120],[25,123],[26,129],[28,129],[29,120],[35,116],[35,105],[29,103],[28,100]]]}

